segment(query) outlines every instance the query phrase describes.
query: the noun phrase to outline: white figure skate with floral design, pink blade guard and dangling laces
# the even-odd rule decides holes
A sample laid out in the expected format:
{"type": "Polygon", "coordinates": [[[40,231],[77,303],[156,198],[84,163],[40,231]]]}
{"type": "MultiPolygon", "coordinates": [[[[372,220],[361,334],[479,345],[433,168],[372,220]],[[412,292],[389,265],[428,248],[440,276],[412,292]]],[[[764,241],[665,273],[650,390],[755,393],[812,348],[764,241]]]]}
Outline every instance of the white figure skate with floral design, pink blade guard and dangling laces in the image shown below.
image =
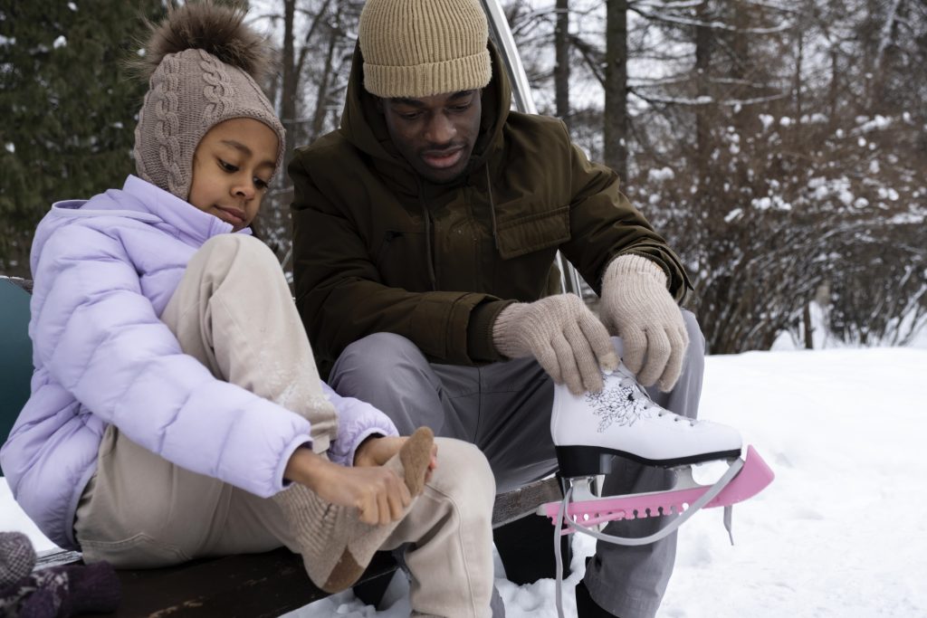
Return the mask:
{"type": "MultiPolygon", "coordinates": [[[[620,350],[618,350],[620,353],[620,350]]],[[[565,385],[554,385],[551,435],[560,473],[569,482],[561,502],[548,502],[539,515],[555,526],[556,607],[563,618],[563,561],[560,536],[580,532],[616,545],[647,545],[675,532],[692,514],[705,507],[724,507],[724,526],[730,535],[731,506],[752,498],[772,482],[769,470],[753,447],[746,458],[740,433],[719,423],[696,421],[664,410],[621,365],[603,375],[600,393],[572,395],[565,385]],[[676,468],[676,483],[667,491],[598,498],[590,490],[596,474],[612,471],[615,456],[660,467],[676,468]],[[714,485],[699,485],[687,464],[729,460],[714,485]],[[593,529],[598,523],[655,516],[674,516],[650,536],[626,538],[593,529]]],[[[733,543],[733,536],[730,537],[733,543]]]]}

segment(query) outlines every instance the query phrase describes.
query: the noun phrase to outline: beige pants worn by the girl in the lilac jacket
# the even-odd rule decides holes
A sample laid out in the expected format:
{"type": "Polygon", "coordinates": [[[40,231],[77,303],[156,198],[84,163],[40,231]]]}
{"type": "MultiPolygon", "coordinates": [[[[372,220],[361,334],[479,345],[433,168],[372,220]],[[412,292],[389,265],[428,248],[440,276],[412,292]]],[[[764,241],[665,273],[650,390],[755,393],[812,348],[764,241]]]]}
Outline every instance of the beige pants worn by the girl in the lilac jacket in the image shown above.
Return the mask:
{"type": "MultiPolygon", "coordinates": [[[[191,259],[161,319],[216,377],[288,401],[312,423],[316,450],[336,435],[332,414],[300,410],[300,401],[317,396],[318,373],[283,273],[259,241],[211,239],[191,259]]],[[[489,616],[492,473],[476,447],[437,442],[438,469],[383,549],[412,544],[406,563],[414,612],[489,616]]],[[[133,568],[297,547],[273,500],[175,466],[114,426],[100,445],[74,532],[84,560],[133,568]]]]}

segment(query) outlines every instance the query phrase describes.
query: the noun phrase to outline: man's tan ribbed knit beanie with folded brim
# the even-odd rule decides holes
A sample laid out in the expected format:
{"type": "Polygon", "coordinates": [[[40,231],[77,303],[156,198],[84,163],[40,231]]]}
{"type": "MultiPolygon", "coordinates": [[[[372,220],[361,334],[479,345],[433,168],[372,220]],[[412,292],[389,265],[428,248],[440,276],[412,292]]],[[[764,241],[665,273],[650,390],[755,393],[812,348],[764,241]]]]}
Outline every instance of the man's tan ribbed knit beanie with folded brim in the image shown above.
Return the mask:
{"type": "Polygon", "coordinates": [[[478,0],[367,0],[358,41],[363,86],[384,98],[483,88],[492,77],[478,0]]]}

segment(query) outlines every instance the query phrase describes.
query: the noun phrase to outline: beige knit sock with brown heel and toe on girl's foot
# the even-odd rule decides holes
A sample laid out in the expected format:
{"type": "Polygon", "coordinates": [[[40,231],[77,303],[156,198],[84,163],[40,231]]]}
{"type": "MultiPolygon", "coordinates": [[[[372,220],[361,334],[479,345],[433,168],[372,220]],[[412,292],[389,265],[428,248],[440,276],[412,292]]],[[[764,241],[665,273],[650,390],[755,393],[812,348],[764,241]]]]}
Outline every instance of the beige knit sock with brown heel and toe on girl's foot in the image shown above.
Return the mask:
{"type": "MultiPolygon", "coordinates": [[[[400,452],[384,465],[405,481],[415,497],[425,486],[425,473],[431,461],[434,435],[420,427],[406,440],[400,452]]],[[[294,484],[273,497],[283,509],[294,538],[297,539],[306,573],[312,583],[325,592],[340,592],[354,584],[377,549],[399,524],[363,523],[357,509],[342,507],[324,499],[309,487],[294,484]]],[[[403,512],[403,517],[412,503],[403,512]]]]}

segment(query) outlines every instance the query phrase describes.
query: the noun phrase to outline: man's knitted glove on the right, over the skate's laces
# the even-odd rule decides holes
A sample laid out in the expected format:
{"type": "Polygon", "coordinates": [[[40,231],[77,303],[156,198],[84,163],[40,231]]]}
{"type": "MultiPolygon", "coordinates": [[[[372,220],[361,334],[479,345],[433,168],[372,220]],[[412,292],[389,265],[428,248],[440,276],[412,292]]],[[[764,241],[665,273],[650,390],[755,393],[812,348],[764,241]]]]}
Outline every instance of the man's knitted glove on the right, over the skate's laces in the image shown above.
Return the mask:
{"type": "Polygon", "coordinates": [[[689,334],[667,290],[667,274],[654,261],[624,255],[602,279],[603,323],[624,343],[624,362],[644,386],[670,390],[679,380],[689,334]]]}

